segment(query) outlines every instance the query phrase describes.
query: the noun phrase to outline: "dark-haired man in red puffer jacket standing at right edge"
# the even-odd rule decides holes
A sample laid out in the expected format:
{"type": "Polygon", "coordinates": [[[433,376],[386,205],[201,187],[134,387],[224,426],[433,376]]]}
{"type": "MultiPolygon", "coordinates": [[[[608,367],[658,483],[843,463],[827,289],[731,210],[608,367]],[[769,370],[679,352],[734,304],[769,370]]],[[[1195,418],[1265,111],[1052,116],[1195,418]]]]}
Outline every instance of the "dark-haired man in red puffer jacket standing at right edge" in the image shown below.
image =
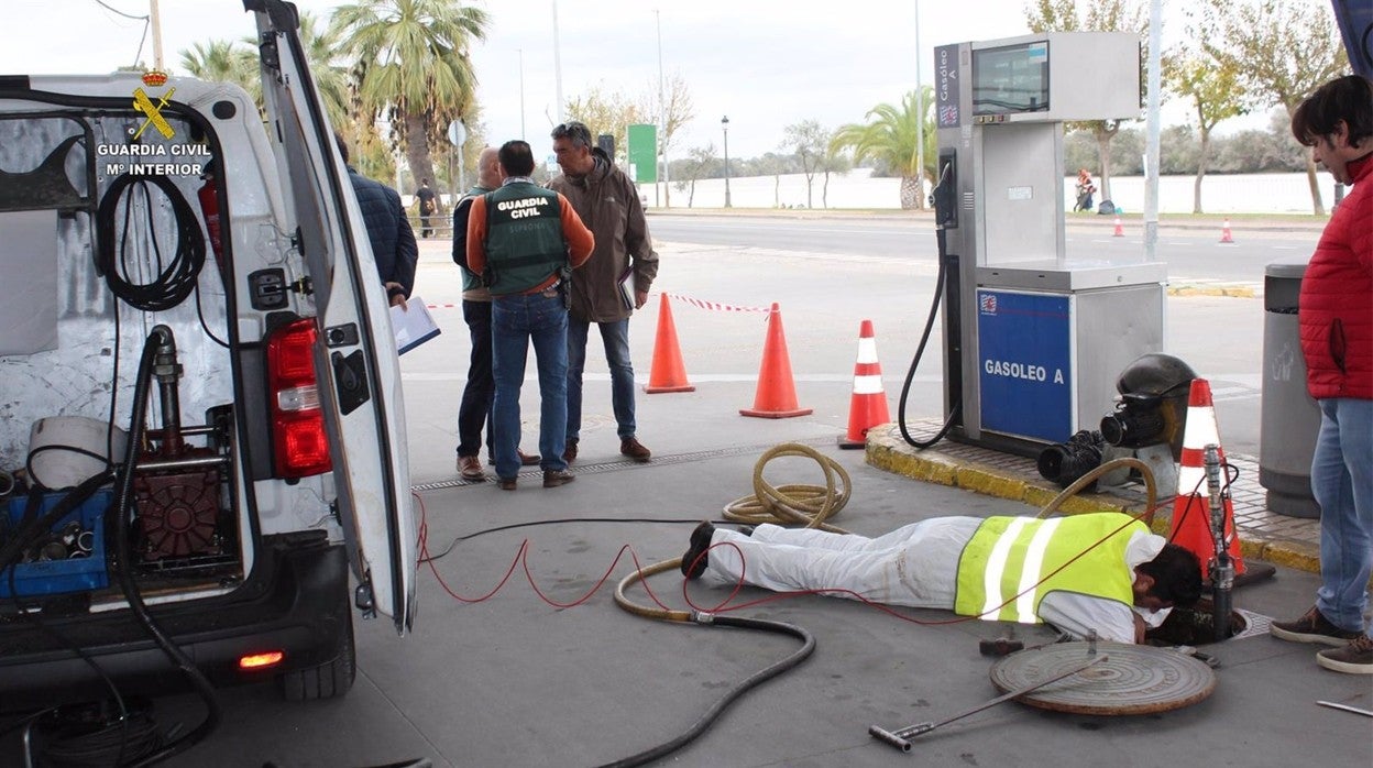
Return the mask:
{"type": "Polygon", "coordinates": [[[1354,190],[1335,209],[1302,276],[1297,324],[1306,390],[1321,408],[1311,493],[1321,506],[1315,605],[1271,633],[1333,646],[1325,669],[1373,675],[1368,584],[1373,572],[1373,81],[1319,87],[1292,113],[1292,136],[1354,190]]]}

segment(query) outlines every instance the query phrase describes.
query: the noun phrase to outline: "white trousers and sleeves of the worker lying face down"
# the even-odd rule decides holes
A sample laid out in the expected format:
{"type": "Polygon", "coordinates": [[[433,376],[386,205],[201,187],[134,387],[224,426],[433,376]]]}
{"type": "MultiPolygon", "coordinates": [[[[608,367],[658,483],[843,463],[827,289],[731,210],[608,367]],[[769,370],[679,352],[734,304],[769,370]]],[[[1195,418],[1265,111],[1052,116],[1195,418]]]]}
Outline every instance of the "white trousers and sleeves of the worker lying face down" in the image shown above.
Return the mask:
{"type": "MultiPolygon", "coordinates": [[[[759,525],[752,536],[721,528],[711,537],[702,578],[717,585],[743,578],[778,592],[847,589],[875,603],[953,610],[958,556],[982,522],[972,517],[932,518],[876,539],[769,523],[759,525]]],[[[1162,536],[1134,533],[1123,565],[1133,572],[1157,556],[1166,543],[1162,536]]],[[[847,592],[832,595],[853,599],[847,592]]],[[[1074,637],[1096,629],[1103,640],[1134,643],[1134,613],[1146,625],[1157,626],[1168,610],[1056,591],[1039,602],[1038,615],[1074,637]]]]}

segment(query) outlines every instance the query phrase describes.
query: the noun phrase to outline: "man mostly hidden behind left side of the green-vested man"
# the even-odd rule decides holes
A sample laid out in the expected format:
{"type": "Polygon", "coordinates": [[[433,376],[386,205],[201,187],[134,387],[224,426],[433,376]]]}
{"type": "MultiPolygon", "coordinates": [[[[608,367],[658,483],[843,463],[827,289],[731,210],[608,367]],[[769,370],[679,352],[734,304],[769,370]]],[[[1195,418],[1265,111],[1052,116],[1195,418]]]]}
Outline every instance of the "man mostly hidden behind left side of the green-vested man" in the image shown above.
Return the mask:
{"type": "MultiPolygon", "coordinates": [[[[482,471],[482,429],[486,429],[486,455],[496,463],[496,440],[492,429],[492,401],[496,379],[492,378],[492,291],[481,275],[467,268],[467,220],[472,201],[501,185],[501,168],[496,147],[486,147],[476,161],[476,184],[453,206],[453,262],[463,271],[463,321],[472,341],[467,364],[467,386],[457,407],[457,471],[463,479],[486,479],[482,471]]],[[[538,456],[519,448],[520,466],[534,466],[538,456]]]]}

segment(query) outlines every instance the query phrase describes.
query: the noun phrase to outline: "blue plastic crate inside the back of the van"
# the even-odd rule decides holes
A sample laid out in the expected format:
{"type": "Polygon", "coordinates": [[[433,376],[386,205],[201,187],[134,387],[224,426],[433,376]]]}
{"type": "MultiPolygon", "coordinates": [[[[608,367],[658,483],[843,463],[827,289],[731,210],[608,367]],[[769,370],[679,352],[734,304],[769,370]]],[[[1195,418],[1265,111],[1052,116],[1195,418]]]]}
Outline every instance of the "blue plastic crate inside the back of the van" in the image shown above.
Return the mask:
{"type": "MultiPolygon", "coordinates": [[[[43,497],[44,514],[62,500],[66,493],[48,493],[43,497]]],[[[91,555],[85,558],[70,558],[63,561],[44,561],[34,563],[19,563],[14,566],[14,589],[19,596],[33,595],[60,595],[65,592],[82,592],[86,589],[100,589],[110,584],[110,573],[104,563],[104,510],[114,499],[114,492],[100,489],[91,495],[80,507],[65,515],[52,526],[54,530],[77,521],[84,530],[95,536],[91,545],[91,555]]],[[[16,526],[23,518],[23,511],[29,506],[29,499],[18,496],[10,499],[10,522],[16,526]]],[[[10,598],[10,569],[0,570],[0,598],[10,598]]]]}

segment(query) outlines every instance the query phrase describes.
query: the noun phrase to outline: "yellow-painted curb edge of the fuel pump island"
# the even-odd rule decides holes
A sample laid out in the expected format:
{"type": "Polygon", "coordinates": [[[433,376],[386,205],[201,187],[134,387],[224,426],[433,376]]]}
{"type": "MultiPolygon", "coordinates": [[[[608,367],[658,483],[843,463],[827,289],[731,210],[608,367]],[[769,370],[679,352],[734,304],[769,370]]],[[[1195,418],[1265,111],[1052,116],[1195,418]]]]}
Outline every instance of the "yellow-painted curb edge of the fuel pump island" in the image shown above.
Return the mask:
{"type": "MultiPolygon", "coordinates": [[[[901,438],[891,425],[873,427],[868,431],[865,460],[869,466],[923,482],[936,482],[951,488],[962,488],[973,493],[1022,501],[1042,510],[1059,488],[1049,481],[1026,479],[1020,473],[993,467],[980,462],[965,460],[941,453],[935,449],[917,451],[901,438]]],[[[1078,493],[1060,507],[1064,514],[1081,512],[1123,512],[1141,515],[1145,504],[1134,503],[1108,493],[1078,493]]],[[[1171,526],[1171,504],[1155,511],[1151,529],[1167,536],[1171,526]]],[[[1238,521],[1236,522],[1238,526],[1238,521]]],[[[1254,530],[1240,528],[1240,554],[1244,558],[1266,561],[1295,570],[1321,573],[1321,556],[1317,547],[1302,541],[1267,540],[1254,530]]]]}

